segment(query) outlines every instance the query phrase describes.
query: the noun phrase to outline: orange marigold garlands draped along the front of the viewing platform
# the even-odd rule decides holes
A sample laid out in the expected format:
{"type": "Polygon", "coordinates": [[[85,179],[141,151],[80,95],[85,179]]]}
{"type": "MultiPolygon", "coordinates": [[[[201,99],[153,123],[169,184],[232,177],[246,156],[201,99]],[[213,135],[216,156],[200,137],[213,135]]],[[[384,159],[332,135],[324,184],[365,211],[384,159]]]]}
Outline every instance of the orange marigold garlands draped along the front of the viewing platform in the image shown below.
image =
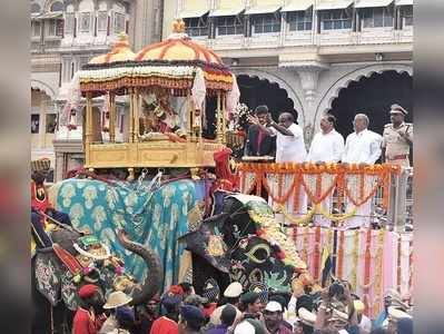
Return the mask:
{"type": "MultiPolygon", "coordinates": [[[[250,194],[254,189],[260,191],[262,187],[268,191],[268,195],[273,200],[282,207],[289,197],[294,194],[295,198],[298,197],[298,191],[300,185],[304,187],[309,200],[314,204],[312,212],[307,214],[307,217],[303,217],[303,220],[309,220],[309,216],[314,215],[315,212],[323,215],[328,215],[324,213],[320,208],[320,203],[329,196],[334,189],[338,194],[338,207],[343,206],[344,199],[347,198],[355,207],[359,207],[367,200],[375,196],[376,191],[383,189],[383,200],[382,205],[385,209],[388,207],[388,189],[389,181],[393,175],[398,175],[401,169],[398,166],[383,164],[383,165],[371,165],[371,166],[359,166],[359,165],[343,165],[343,164],[325,164],[315,165],[309,163],[304,164],[239,164],[238,165],[239,177],[240,177],[240,189],[244,194],[250,194]],[[278,194],[273,191],[274,187],[269,184],[267,179],[268,175],[275,175],[277,181],[278,194]],[[289,188],[284,189],[283,175],[294,175],[294,181],[289,188]],[[323,187],[323,176],[330,176],[330,183],[323,187]],[[359,181],[357,183],[358,191],[357,197],[353,196],[353,189],[349,188],[349,184],[353,183],[348,180],[349,177],[357,176],[359,181]],[[368,176],[376,178],[375,184],[369,190],[365,189],[364,179],[368,176]],[[249,181],[247,181],[249,177],[249,181]],[[312,181],[306,181],[306,178],[314,178],[312,181]],[[315,187],[310,187],[314,184],[315,187]]],[[[260,195],[260,194],[257,194],[260,195]]],[[[353,213],[346,214],[347,216],[353,215],[353,213]]],[[[332,216],[332,218],[335,218],[332,216]]],[[[338,217],[338,219],[344,219],[345,216],[338,217]]],[[[299,219],[300,220],[300,219],[299,219]]],[[[298,223],[304,223],[300,220],[298,223]]]]}

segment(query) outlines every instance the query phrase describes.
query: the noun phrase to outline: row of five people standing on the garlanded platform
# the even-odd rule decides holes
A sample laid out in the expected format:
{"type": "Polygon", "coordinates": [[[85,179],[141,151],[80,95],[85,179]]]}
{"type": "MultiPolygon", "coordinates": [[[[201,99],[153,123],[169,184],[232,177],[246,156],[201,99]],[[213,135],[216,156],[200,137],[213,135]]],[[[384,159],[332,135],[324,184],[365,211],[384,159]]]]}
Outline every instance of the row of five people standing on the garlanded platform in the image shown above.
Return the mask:
{"type": "MultiPolygon", "coordinates": [[[[254,115],[248,117],[248,128],[245,146],[245,156],[270,157],[276,163],[313,163],[343,165],[357,164],[359,166],[374,165],[381,159],[383,163],[410,167],[408,154],[413,144],[413,125],[405,122],[408,112],[398,105],[391,106],[391,124],[384,127],[383,135],[368,129],[369,118],[365,114],[357,114],[353,120],[354,131],[346,139],[336,131],[336,118],[326,114],[320,119],[320,131],[317,132],[307,151],[304,131],[295,124],[294,116],[289,112],[279,115],[278,122],[272,119],[267,106],[258,106],[254,115]]],[[[285,184],[293,184],[292,177],[286,177],[285,184]]],[[[287,212],[303,216],[307,213],[307,196],[304,189],[299,191],[299,207],[292,207],[288,200],[287,212]]],[[[322,205],[324,212],[332,212],[332,196],[327,196],[322,205]]],[[[270,200],[273,205],[273,200],[270,200]]],[[[369,226],[371,200],[358,207],[348,204],[354,217],[346,222],[347,228],[369,226]]],[[[315,225],[329,227],[332,222],[323,215],[314,218],[315,225]]]]}

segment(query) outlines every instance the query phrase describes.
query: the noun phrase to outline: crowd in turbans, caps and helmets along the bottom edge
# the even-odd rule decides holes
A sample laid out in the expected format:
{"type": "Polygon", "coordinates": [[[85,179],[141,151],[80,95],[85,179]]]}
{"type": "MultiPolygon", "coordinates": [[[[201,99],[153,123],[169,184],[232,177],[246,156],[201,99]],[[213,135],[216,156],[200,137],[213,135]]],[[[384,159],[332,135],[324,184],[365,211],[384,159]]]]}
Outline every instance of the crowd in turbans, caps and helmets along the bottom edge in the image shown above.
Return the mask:
{"type": "Polygon", "coordinates": [[[72,334],[411,334],[412,306],[394,289],[372,322],[365,305],[346,282],[326,288],[295,284],[290,293],[244,291],[233,282],[220,294],[217,283],[201,295],[189,283],[169,287],[146,305],[130,306],[124,292],[109,294],[105,305],[92,284],[79,289],[81,304],[72,334]]]}

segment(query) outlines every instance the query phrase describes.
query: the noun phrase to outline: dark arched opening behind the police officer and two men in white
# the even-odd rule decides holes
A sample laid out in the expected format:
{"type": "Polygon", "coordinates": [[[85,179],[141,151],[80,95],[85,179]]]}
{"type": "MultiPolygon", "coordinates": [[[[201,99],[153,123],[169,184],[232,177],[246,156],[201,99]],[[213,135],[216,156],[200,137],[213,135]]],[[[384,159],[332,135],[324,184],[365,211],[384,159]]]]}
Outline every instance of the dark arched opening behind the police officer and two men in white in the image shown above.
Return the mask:
{"type": "Polygon", "coordinates": [[[339,91],[328,112],[337,118],[337,130],[344,137],[353,131],[353,118],[358,112],[367,114],[369,129],[383,134],[389,122],[389,106],[398,104],[408,110],[406,121],[413,120],[413,80],[406,72],[387,70],[352,81],[339,91]]]}

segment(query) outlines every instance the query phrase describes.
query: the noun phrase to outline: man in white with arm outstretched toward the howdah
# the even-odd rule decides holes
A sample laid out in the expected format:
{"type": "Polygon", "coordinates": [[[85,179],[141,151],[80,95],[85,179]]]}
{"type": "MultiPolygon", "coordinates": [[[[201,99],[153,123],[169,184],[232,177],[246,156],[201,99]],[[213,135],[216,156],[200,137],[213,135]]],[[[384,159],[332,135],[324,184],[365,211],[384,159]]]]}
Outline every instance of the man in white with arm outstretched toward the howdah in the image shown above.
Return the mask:
{"type": "MultiPolygon", "coordinates": [[[[304,163],[307,156],[304,143],[304,131],[303,129],[294,122],[294,117],[289,112],[283,112],[279,115],[278,124],[276,124],[270,117],[267,127],[263,127],[263,130],[267,131],[270,136],[276,136],[276,163],[304,163]]],[[[250,118],[250,121],[259,125],[259,121],[250,118]]],[[[284,177],[284,191],[293,185],[294,176],[288,175],[284,177]]],[[[277,186],[277,183],[276,183],[277,186]]],[[[274,193],[277,194],[276,187],[274,193]]],[[[294,208],[293,196],[289,196],[285,210],[297,216],[305,215],[307,213],[307,196],[303,189],[299,190],[299,207],[294,208]]],[[[269,204],[273,206],[273,199],[269,198],[269,204]]]]}

